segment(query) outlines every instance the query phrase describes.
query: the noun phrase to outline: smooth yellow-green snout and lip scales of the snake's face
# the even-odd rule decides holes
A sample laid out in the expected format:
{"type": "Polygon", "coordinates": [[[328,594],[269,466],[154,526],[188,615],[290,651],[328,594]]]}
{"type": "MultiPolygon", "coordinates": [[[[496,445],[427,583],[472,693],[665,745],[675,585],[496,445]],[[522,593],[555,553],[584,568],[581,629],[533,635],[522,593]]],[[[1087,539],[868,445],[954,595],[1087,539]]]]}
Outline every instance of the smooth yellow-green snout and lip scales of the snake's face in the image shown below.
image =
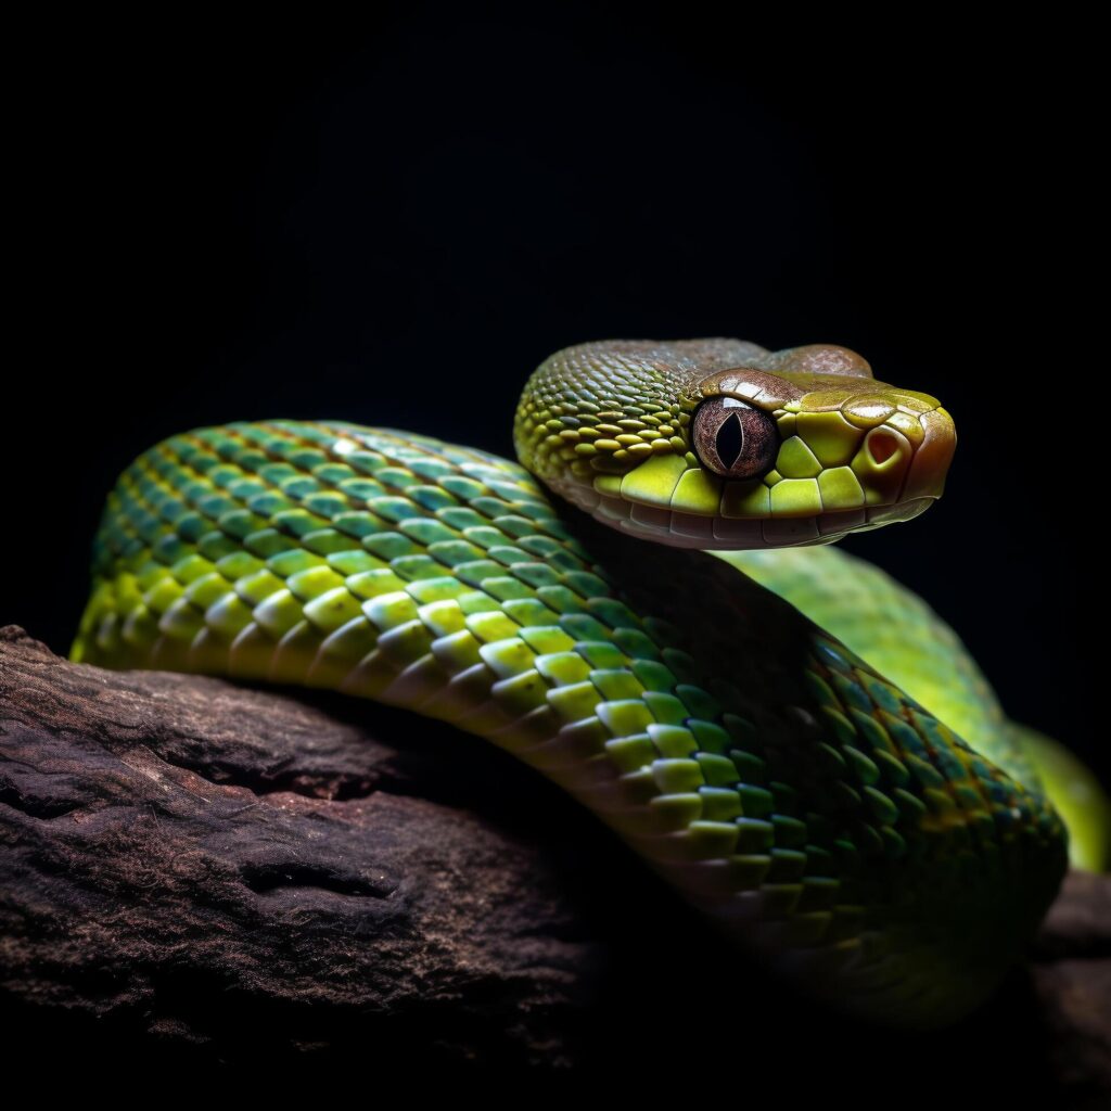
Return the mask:
{"type": "Polygon", "coordinates": [[[661,456],[620,480],[560,492],[604,524],[672,547],[830,543],[922,513],[941,497],[957,444],[937,404],[879,419],[861,407],[860,419],[868,427],[841,412],[782,414],[775,467],[757,479],[722,480],[691,457],[661,456]]]}

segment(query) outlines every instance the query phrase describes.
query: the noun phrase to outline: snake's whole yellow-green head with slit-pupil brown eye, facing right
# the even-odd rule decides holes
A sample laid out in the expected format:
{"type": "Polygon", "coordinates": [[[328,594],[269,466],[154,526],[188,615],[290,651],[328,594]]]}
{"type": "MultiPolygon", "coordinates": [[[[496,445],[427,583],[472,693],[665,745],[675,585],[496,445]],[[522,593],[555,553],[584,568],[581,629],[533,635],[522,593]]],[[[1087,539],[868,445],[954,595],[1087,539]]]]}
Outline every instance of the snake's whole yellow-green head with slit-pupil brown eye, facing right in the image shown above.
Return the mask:
{"type": "Polygon", "coordinates": [[[829,543],[917,517],[957,443],[927,393],[845,348],[587,343],[529,380],[518,454],[622,531],[682,548],[829,543]]]}

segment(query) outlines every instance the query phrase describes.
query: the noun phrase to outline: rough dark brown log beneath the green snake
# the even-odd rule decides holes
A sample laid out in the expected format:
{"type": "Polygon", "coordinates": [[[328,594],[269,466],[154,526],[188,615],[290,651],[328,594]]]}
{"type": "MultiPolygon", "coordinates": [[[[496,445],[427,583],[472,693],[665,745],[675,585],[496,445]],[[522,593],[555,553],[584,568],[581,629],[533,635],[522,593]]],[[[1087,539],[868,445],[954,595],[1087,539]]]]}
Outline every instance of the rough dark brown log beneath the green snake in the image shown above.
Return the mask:
{"type": "Polygon", "coordinates": [[[0,1020],[9,1060],[63,1047],[76,1075],[590,1077],[738,1101],[849,1085],[854,1107],[910,1084],[1094,1107],[1111,883],[1071,875],[1031,964],[977,1015],[880,1031],[784,993],[482,741],[353,700],[73,665],[9,627],[0,1020]]]}

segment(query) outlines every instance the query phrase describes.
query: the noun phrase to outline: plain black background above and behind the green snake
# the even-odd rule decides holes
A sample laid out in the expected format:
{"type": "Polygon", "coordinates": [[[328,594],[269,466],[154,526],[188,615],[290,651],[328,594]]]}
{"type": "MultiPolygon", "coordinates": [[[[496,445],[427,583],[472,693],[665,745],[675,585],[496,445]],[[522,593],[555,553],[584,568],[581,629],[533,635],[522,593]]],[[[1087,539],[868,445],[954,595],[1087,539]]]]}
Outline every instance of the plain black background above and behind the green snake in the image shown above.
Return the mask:
{"type": "Polygon", "coordinates": [[[829,341],[961,438],[937,508],[848,547],[1102,759],[1082,30],[523,12],[98,16],[16,47],[0,621],[68,648],[100,501],[172,432],[330,417],[510,453],[565,344],[829,341]]]}

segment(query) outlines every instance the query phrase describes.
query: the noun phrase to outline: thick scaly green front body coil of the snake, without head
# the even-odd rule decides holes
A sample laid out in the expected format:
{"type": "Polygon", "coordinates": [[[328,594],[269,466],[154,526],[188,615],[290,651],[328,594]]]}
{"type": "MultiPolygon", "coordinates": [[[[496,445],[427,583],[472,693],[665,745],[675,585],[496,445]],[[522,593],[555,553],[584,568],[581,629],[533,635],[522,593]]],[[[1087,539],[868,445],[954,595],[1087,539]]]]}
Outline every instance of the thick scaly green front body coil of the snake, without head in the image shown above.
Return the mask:
{"type": "Polygon", "coordinates": [[[406,433],[272,421],[147,452],[109,498],[73,655],[452,721],[888,1021],[974,1005],[1063,869],[1040,795],[745,577],[406,433]]]}

